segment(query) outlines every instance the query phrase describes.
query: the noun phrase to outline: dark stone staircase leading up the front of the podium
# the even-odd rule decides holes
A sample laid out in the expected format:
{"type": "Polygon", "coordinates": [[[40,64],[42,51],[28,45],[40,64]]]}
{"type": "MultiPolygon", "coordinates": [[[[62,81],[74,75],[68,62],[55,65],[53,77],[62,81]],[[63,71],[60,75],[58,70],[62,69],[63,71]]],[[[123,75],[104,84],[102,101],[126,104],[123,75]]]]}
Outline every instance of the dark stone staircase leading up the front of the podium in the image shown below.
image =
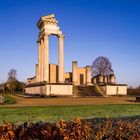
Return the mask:
{"type": "Polygon", "coordinates": [[[88,97],[88,96],[104,96],[104,93],[97,85],[78,85],[73,87],[74,96],[88,97]]]}

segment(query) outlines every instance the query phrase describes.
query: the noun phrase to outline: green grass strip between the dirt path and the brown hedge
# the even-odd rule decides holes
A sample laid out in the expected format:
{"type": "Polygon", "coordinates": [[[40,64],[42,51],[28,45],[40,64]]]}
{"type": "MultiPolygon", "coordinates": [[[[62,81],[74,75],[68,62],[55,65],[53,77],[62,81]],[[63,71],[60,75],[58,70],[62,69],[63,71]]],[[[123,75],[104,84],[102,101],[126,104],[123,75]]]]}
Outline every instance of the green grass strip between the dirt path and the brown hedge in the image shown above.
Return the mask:
{"type": "Polygon", "coordinates": [[[36,121],[58,121],[73,118],[104,118],[140,116],[140,105],[90,105],[90,106],[51,106],[51,107],[1,107],[0,123],[23,123],[36,121]]]}

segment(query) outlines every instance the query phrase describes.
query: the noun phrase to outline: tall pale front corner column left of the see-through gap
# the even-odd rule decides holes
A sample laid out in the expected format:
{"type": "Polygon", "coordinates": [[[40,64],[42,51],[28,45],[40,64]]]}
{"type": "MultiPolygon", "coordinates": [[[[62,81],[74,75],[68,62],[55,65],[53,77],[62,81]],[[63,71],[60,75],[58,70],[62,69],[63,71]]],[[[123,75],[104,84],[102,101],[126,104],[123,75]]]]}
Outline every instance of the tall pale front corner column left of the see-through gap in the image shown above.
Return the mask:
{"type": "Polygon", "coordinates": [[[43,79],[49,82],[49,35],[44,36],[44,49],[43,49],[43,79]]]}

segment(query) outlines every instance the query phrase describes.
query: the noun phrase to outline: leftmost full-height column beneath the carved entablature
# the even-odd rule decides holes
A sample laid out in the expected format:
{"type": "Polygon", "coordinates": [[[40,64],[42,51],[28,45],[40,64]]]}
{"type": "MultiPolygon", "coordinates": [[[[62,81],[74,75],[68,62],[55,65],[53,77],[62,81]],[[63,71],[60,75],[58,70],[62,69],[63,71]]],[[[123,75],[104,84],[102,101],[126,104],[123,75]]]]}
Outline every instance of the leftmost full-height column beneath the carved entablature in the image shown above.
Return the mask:
{"type": "Polygon", "coordinates": [[[38,42],[38,82],[41,81],[41,43],[38,42]]]}

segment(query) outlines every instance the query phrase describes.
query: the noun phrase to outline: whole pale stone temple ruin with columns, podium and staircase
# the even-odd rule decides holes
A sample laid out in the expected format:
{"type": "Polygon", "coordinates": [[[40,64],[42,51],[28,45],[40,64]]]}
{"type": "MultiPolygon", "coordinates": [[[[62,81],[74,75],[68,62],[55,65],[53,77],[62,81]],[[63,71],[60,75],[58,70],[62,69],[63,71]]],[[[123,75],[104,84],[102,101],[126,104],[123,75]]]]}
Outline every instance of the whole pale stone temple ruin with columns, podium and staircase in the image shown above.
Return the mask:
{"type": "Polygon", "coordinates": [[[91,66],[78,67],[72,62],[72,72],[64,72],[64,34],[55,16],[48,15],[39,19],[38,64],[36,75],[27,79],[25,92],[42,96],[104,96],[127,94],[125,84],[116,84],[115,76],[91,77],[91,66]],[[58,65],[49,63],[49,37],[58,38],[58,65]],[[97,92],[98,91],[98,92],[97,92]]]}

